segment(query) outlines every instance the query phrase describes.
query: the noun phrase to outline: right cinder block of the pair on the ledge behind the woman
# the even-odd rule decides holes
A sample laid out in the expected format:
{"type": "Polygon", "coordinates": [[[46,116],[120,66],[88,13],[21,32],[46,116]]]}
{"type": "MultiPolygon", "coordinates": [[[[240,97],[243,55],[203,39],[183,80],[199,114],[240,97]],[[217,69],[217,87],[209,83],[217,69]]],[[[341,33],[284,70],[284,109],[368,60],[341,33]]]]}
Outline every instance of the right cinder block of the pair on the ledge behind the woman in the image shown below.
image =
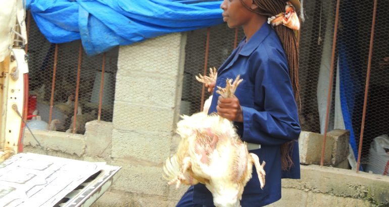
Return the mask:
{"type": "Polygon", "coordinates": [[[327,133],[327,137],[332,139],[331,164],[336,166],[347,160],[349,155],[350,131],[335,129],[327,133]]]}

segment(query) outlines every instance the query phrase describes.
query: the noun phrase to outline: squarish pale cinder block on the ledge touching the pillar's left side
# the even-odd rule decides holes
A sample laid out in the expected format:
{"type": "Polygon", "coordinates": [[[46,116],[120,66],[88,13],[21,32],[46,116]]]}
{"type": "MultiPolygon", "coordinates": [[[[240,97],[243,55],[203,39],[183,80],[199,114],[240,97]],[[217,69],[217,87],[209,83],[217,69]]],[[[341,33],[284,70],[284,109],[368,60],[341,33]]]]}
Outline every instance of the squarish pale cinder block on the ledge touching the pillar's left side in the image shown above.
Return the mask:
{"type": "Polygon", "coordinates": [[[109,157],[111,154],[112,122],[94,120],[85,124],[85,155],[109,157]]]}

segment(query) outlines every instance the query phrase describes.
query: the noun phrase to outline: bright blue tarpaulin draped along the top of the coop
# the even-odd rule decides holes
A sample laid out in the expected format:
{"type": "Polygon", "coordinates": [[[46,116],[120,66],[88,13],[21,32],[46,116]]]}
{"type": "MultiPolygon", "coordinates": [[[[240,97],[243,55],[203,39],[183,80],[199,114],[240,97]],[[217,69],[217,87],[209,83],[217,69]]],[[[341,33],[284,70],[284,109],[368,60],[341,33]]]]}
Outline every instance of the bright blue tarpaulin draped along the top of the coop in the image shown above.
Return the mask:
{"type": "Polygon", "coordinates": [[[217,25],[222,1],[27,0],[39,30],[52,43],[81,39],[88,55],[117,45],[217,25]]]}

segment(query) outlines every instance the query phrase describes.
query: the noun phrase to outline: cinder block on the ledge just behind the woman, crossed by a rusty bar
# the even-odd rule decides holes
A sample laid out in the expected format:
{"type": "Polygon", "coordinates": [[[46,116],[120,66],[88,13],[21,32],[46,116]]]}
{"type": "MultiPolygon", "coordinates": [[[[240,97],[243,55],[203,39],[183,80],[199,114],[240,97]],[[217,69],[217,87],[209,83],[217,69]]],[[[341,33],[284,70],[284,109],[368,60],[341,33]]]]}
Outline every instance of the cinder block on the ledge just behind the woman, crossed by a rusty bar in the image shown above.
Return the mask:
{"type": "MultiPolygon", "coordinates": [[[[320,164],[323,135],[302,131],[299,138],[300,163],[320,164]]],[[[331,164],[332,139],[327,136],[324,150],[324,165],[331,164]]]]}

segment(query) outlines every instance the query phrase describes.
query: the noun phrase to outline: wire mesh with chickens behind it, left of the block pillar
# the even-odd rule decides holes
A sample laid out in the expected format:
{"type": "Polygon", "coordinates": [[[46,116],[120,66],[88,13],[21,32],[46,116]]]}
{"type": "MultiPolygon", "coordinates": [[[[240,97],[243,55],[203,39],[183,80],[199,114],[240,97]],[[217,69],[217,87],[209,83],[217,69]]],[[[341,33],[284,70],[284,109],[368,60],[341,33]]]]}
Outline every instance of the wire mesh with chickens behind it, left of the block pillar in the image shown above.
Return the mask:
{"type": "MultiPolygon", "coordinates": [[[[118,48],[106,54],[89,57],[83,50],[79,54],[80,46],[80,40],[62,44],[50,43],[40,33],[33,19],[30,20],[27,47],[29,115],[38,115],[41,121],[50,123],[50,130],[72,133],[75,128],[74,133],[83,134],[85,123],[98,119],[102,76],[104,76],[104,88],[101,120],[112,121],[118,48]],[[81,59],[79,59],[80,55],[81,59]],[[106,57],[104,74],[102,73],[103,56],[106,57]],[[80,65],[79,61],[81,61],[80,65]],[[78,68],[80,68],[79,77],[78,68]],[[77,85],[78,91],[76,91],[77,85]],[[34,99],[36,102],[31,106],[34,99]],[[76,110],[75,101],[77,101],[76,110]],[[53,106],[52,111],[51,106],[53,106]]],[[[36,118],[30,116],[29,119],[36,118]]],[[[38,128],[42,129],[45,126],[41,125],[38,128]]]]}

